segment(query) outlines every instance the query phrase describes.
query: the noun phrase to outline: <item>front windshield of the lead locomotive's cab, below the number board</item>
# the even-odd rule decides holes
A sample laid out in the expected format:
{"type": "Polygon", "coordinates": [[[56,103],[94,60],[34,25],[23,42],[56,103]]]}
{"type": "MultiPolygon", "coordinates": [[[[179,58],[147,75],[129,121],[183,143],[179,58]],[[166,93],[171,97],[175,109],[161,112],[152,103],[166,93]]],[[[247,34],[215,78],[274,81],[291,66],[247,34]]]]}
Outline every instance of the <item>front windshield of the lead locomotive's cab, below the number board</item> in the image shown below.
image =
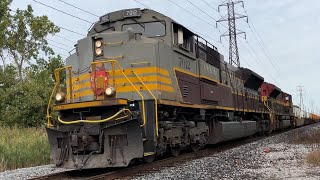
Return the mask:
{"type": "Polygon", "coordinates": [[[145,37],[159,37],[166,35],[166,26],[163,22],[145,22],[124,24],[123,31],[133,31],[134,33],[141,33],[145,37]]]}

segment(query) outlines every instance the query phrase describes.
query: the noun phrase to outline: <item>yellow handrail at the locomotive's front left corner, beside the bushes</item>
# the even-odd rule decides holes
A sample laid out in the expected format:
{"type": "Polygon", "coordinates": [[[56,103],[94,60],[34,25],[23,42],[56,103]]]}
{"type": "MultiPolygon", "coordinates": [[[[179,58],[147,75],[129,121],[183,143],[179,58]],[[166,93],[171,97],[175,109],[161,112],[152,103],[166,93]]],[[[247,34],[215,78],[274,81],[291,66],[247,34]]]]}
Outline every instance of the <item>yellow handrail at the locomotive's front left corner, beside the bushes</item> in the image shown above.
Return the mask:
{"type": "Polygon", "coordinates": [[[50,99],[49,99],[49,102],[48,102],[48,106],[47,106],[47,126],[48,127],[51,127],[51,116],[50,116],[50,107],[51,107],[51,103],[52,103],[52,97],[54,95],[54,93],[56,92],[57,90],[57,87],[59,86],[59,90],[60,90],[60,71],[61,70],[64,70],[64,69],[68,69],[69,70],[69,81],[70,81],[70,100],[72,99],[72,77],[71,77],[71,69],[72,69],[72,66],[65,66],[65,67],[61,67],[61,68],[57,68],[54,70],[54,77],[56,79],[56,83],[54,85],[54,88],[51,92],[51,95],[50,95],[50,99]]]}

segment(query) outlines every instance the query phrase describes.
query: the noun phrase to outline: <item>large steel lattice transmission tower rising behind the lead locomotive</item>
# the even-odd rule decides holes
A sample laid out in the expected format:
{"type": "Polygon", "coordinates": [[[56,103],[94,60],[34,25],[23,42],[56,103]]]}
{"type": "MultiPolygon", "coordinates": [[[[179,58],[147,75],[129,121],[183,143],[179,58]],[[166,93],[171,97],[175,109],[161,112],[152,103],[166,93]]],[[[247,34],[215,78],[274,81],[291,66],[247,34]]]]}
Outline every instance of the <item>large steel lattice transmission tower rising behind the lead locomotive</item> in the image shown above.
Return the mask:
{"type": "MultiPolygon", "coordinates": [[[[236,28],[236,20],[241,18],[247,18],[248,22],[248,16],[244,16],[241,14],[235,13],[235,5],[236,4],[242,4],[242,7],[244,7],[243,1],[235,1],[228,0],[226,3],[221,4],[218,6],[218,11],[220,12],[220,7],[226,6],[228,10],[228,14],[225,17],[222,17],[220,20],[217,21],[217,25],[219,22],[228,21],[228,32],[221,35],[223,36],[229,36],[229,63],[231,65],[235,65],[237,67],[240,67],[240,59],[239,59],[239,50],[238,50],[238,44],[237,44],[237,35],[244,34],[246,38],[246,33],[243,31],[240,31],[236,28]]],[[[220,41],[221,41],[220,37],[220,41]]]]}

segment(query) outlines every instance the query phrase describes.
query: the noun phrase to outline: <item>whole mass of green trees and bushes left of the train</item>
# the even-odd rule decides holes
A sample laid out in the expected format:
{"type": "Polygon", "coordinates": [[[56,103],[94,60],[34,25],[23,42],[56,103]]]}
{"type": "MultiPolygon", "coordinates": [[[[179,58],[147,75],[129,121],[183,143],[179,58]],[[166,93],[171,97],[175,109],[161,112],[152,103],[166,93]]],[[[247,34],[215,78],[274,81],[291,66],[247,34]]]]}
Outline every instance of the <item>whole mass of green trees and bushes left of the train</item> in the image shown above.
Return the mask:
{"type": "Polygon", "coordinates": [[[60,29],[31,5],[11,10],[0,1],[0,125],[41,126],[54,86],[54,69],[64,65],[47,41],[60,29]]]}

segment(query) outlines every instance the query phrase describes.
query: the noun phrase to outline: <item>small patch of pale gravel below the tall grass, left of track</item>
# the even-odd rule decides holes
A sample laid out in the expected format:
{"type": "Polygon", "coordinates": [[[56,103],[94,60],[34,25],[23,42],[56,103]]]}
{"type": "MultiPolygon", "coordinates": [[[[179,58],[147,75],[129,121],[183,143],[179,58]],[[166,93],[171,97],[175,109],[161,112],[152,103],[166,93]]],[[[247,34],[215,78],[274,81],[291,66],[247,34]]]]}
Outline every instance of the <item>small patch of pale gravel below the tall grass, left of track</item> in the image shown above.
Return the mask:
{"type": "Polygon", "coordinates": [[[45,176],[52,173],[66,171],[63,168],[57,168],[54,164],[36,166],[30,168],[21,168],[12,171],[5,171],[0,173],[1,180],[22,180],[31,179],[35,177],[45,176]]]}

